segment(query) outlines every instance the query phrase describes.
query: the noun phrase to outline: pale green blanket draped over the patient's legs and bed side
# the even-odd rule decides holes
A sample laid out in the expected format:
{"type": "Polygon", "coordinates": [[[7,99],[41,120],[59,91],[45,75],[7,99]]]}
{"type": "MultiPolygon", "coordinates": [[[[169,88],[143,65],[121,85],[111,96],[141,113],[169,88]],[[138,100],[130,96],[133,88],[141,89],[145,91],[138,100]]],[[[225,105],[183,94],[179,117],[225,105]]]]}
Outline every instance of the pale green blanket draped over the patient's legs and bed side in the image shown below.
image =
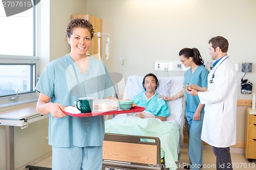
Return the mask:
{"type": "Polygon", "coordinates": [[[161,158],[165,167],[176,169],[178,161],[179,127],[175,123],[160,122],[155,118],[127,116],[106,120],[105,132],[125,135],[154,136],[161,142],[161,158]]]}

